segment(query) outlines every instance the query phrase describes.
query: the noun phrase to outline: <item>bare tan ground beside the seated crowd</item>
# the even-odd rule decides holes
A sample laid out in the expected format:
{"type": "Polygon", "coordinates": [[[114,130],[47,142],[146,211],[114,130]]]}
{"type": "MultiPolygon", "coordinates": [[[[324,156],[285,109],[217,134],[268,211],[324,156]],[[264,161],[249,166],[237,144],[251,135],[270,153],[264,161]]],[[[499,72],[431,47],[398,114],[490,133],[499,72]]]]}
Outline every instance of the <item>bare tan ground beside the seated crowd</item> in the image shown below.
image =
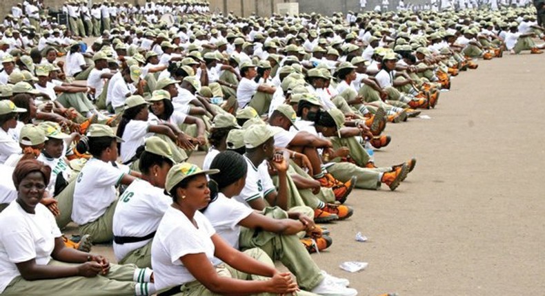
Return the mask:
{"type": "MultiPolygon", "coordinates": [[[[355,190],[355,214],[327,226],[333,246],[317,264],[359,295],[543,295],[544,58],[478,61],[423,112],[430,119],[388,125],[377,165],[416,157],[415,171],[395,192],[355,190]],[[345,261],[369,265],[348,273],[345,261]]],[[[114,260],[108,246],[93,252],[114,260]]]]}

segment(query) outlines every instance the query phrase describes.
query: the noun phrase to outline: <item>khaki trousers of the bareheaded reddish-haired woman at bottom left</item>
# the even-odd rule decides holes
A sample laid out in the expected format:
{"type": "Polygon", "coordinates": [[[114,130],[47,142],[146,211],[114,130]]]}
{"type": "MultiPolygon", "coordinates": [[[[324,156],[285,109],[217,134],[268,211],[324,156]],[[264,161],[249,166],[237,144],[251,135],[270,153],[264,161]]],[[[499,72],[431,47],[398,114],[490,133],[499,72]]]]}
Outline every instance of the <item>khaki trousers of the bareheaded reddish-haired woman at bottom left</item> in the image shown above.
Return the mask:
{"type": "MultiPolygon", "coordinates": [[[[77,266],[79,264],[51,260],[50,266],[77,266]]],[[[110,264],[108,275],[96,277],[63,277],[59,279],[38,279],[27,281],[15,277],[2,295],[135,295],[134,265],[110,264]]]]}

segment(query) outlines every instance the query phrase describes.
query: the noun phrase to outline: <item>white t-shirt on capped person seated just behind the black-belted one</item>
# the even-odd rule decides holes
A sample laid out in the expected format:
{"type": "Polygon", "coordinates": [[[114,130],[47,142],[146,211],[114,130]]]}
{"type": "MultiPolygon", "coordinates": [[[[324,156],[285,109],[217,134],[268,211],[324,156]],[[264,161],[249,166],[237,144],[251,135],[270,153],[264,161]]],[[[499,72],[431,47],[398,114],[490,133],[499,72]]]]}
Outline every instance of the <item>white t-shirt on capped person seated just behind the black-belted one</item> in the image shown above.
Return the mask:
{"type": "Polygon", "coordinates": [[[74,189],[72,221],[79,225],[94,222],[115,202],[115,186],[126,172],[97,158],[91,158],[79,172],[74,189]]]}

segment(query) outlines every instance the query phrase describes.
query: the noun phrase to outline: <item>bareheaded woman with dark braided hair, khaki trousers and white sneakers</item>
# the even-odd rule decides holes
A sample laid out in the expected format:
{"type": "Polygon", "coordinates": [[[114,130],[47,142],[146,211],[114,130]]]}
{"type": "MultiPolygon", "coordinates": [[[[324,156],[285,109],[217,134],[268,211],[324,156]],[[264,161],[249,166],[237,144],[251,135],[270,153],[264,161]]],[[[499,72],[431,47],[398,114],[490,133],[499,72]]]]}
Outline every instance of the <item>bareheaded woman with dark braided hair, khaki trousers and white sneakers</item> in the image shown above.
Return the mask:
{"type": "MultiPolygon", "coordinates": [[[[284,160],[282,162],[285,162],[284,160]]],[[[319,295],[356,295],[346,288],[347,279],[339,279],[321,271],[299,242],[299,233],[308,239],[319,239],[322,231],[306,215],[287,213],[277,207],[266,208],[263,213],[252,211],[244,204],[232,200],[246,186],[248,165],[244,156],[235,151],[218,154],[210,169],[219,173],[210,175],[217,183],[219,193],[203,213],[214,229],[233,248],[248,250],[259,248],[273,260],[281,261],[297,277],[301,288],[319,295]]],[[[221,263],[217,258],[215,264],[221,263]]]]}

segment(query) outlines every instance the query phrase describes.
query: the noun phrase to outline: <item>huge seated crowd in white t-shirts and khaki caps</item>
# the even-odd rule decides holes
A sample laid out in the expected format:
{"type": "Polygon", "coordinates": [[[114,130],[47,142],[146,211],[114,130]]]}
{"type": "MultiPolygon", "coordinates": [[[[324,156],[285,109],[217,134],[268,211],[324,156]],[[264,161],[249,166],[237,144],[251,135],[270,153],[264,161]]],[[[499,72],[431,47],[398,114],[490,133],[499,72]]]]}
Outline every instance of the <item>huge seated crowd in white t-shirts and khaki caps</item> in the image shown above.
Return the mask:
{"type": "Polygon", "coordinates": [[[39,7],[0,27],[2,295],[357,295],[310,253],[333,244],[324,224],[361,215],[354,188],[394,191],[415,169],[375,158],[386,126],[545,39],[533,8],[242,18],[69,1],[67,27],[39,7]]]}

